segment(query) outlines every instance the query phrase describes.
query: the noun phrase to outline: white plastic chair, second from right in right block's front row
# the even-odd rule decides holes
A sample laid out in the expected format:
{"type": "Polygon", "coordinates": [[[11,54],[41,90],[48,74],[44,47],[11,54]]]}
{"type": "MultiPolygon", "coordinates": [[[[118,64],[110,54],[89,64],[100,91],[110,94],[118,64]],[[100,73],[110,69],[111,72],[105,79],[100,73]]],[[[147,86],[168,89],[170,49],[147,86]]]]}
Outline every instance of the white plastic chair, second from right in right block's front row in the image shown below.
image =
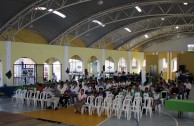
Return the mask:
{"type": "Polygon", "coordinates": [[[138,121],[140,120],[142,116],[141,104],[142,104],[142,98],[135,97],[133,100],[132,106],[131,106],[131,112],[134,113],[134,117],[137,118],[138,121]]]}

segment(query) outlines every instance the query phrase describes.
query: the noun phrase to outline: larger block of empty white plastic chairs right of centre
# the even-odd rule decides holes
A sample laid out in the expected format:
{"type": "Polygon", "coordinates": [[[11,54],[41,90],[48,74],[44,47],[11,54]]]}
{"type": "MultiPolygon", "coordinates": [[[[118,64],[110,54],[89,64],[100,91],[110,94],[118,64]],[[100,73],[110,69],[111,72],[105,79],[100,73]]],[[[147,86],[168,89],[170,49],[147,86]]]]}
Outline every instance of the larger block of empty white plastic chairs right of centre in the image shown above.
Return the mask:
{"type": "MultiPolygon", "coordinates": [[[[114,112],[115,116],[120,119],[122,112],[124,112],[127,120],[130,120],[131,114],[134,113],[134,117],[139,121],[145,109],[146,115],[149,112],[150,117],[152,116],[153,98],[144,98],[143,104],[142,97],[135,97],[133,100],[130,95],[127,95],[125,98],[122,95],[117,95],[113,100],[113,96],[111,94],[104,99],[102,96],[96,98],[94,96],[88,96],[86,103],[82,106],[81,113],[83,114],[86,108],[88,109],[89,115],[97,111],[98,116],[105,113],[109,117],[114,112]]],[[[158,108],[161,111],[161,105],[158,108]]]]}

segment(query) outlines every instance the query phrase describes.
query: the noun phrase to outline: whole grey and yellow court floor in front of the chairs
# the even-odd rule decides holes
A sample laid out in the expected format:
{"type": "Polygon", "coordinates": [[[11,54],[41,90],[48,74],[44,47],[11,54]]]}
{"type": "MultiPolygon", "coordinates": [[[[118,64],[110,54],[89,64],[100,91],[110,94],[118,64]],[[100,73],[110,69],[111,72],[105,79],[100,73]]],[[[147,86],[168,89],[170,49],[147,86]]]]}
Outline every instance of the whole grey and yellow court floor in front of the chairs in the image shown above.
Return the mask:
{"type": "MultiPolygon", "coordinates": [[[[194,100],[194,90],[191,91],[190,98],[194,100]]],[[[125,118],[117,119],[115,117],[111,117],[106,119],[106,117],[98,117],[94,115],[89,117],[89,115],[79,115],[72,113],[73,109],[69,108],[68,110],[61,109],[61,110],[50,110],[50,111],[41,111],[41,108],[35,107],[27,107],[23,106],[22,108],[18,108],[15,103],[11,103],[11,99],[0,99],[0,111],[11,112],[11,113],[23,113],[23,115],[28,115],[32,117],[40,117],[44,118],[44,113],[50,113],[51,115],[47,115],[49,119],[52,117],[59,115],[57,119],[61,122],[68,122],[69,124],[78,124],[77,122],[84,122],[79,123],[79,126],[194,126],[194,113],[187,113],[184,112],[184,118],[178,119],[176,111],[170,111],[162,109],[162,112],[159,114],[157,111],[153,113],[152,118],[148,115],[143,115],[140,122],[137,122],[134,118],[131,120],[126,120],[125,118]],[[37,111],[32,112],[31,111],[37,111]],[[60,113],[60,114],[57,114],[60,113]],[[106,119],[106,120],[104,120],[106,119]],[[71,121],[70,121],[71,120],[71,121]],[[75,121],[74,121],[75,120],[75,121]],[[98,121],[95,121],[98,120],[98,121]],[[73,121],[73,123],[72,123],[73,121]],[[71,122],[71,123],[70,123],[71,122]]]]}

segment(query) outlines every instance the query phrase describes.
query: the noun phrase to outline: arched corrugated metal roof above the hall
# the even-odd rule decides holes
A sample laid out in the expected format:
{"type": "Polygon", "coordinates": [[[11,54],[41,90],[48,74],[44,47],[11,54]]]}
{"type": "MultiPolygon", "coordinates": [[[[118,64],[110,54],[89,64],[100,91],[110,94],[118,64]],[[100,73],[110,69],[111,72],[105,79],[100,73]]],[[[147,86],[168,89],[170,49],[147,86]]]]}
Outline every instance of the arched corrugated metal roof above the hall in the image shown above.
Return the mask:
{"type": "Polygon", "coordinates": [[[88,47],[93,47],[102,40],[108,40],[115,49],[118,49],[126,44],[136,46],[145,40],[152,41],[151,39],[160,36],[162,31],[166,34],[172,30],[176,31],[172,29],[176,25],[180,25],[180,31],[191,31],[191,27],[188,26],[194,23],[192,0],[185,1],[188,2],[187,6],[180,0],[102,0],[102,5],[98,5],[98,1],[67,0],[62,5],[64,2],[62,0],[1,0],[0,33],[10,27],[18,28],[17,22],[19,22],[21,27],[18,30],[30,29],[44,36],[52,42],[51,44],[62,35],[72,34],[75,36],[72,40],[81,38],[88,47]],[[36,2],[37,4],[32,6],[36,2]],[[46,6],[47,9],[34,11],[39,5],[46,6]],[[64,7],[66,5],[68,6],[64,7]],[[139,6],[142,12],[138,12],[135,6],[139,6]],[[48,14],[49,8],[59,9],[58,11],[65,14],[66,18],[53,13],[48,14]],[[20,13],[25,9],[27,10],[25,13],[20,13]],[[15,16],[18,16],[18,19],[24,16],[24,21],[14,19],[15,16]],[[11,25],[9,25],[10,20],[12,20],[11,25]],[[106,26],[100,27],[92,20],[99,20],[106,26]],[[124,30],[125,27],[129,27],[132,32],[124,30]],[[149,39],[145,39],[144,34],[149,34],[149,39]]]}

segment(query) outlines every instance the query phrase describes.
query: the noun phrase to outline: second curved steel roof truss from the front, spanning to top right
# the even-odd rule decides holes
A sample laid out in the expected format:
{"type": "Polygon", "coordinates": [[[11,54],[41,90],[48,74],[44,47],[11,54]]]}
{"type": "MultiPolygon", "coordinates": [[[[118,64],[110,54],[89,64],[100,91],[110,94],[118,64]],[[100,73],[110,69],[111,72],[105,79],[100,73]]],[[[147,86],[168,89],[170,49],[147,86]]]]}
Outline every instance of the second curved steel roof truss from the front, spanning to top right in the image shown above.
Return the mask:
{"type": "MultiPolygon", "coordinates": [[[[193,5],[194,1],[189,1],[189,2],[190,4],[193,5]]],[[[181,0],[174,0],[174,1],[165,0],[165,1],[135,3],[135,4],[129,4],[129,5],[124,5],[117,8],[109,9],[107,11],[103,11],[98,14],[92,15],[91,17],[79,22],[75,26],[69,28],[68,30],[66,30],[65,32],[61,33],[59,36],[54,38],[50,42],[50,44],[53,44],[54,42],[56,42],[63,35],[68,36],[68,34],[73,34],[75,35],[75,37],[68,41],[68,43],[70,43],[71,41],[86,34],[87,32],[94,30],[96,28],[99,28],[100,26],[98,25],[91,25],[91,22],[94,19],[99,21],[102,21],[103,19],[103,23],[105,25],[108,25],[108,24],[112,24],[123,20],[142,18],[146,16],[148,17],[156,16],[156,15],[168,16],[168,15],[176,15],[177,13],[183,14],[183,15],[192,15],[194,6],[188,6],[187,8],[182,9],[182,6],[180,4],[183,4],[181,0]],[[135,6],[141,7],[142,12],[138,13],[137,10],[135,9],[135,6]],[[144,10],[145,8],[147,9],[144,10]],[[81,27],[87,27],[87,29],[85,31],[79,32],[79,29],[81,27]]],[[[89,47],[91,47],[94,44],[89,44],[89,47]]]]}

